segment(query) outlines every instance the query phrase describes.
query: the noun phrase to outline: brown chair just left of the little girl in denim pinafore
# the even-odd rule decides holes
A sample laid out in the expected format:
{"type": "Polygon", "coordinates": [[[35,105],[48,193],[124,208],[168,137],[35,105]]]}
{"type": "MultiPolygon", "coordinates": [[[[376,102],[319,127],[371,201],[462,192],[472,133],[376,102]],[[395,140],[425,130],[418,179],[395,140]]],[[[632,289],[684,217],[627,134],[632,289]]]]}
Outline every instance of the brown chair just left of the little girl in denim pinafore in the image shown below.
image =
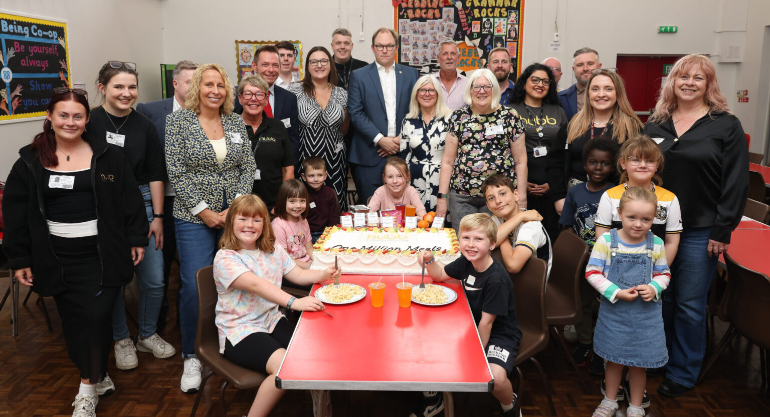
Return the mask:
{"type": "Polygon", "coordinates": [[[545,318],[551,327],[551,336],[567,355],[585,393],[591,394],[591,389],[588,389],[567,348],[567,343],[564,342],[564,335],[559,332],[565,325],[574,325],[581,320],[583,305],[580,299],[580,282],[585,279],[587,262],[588,244],[570,230],[561,232],[554,245],[551,275],[545,286],[545,318]]]}

